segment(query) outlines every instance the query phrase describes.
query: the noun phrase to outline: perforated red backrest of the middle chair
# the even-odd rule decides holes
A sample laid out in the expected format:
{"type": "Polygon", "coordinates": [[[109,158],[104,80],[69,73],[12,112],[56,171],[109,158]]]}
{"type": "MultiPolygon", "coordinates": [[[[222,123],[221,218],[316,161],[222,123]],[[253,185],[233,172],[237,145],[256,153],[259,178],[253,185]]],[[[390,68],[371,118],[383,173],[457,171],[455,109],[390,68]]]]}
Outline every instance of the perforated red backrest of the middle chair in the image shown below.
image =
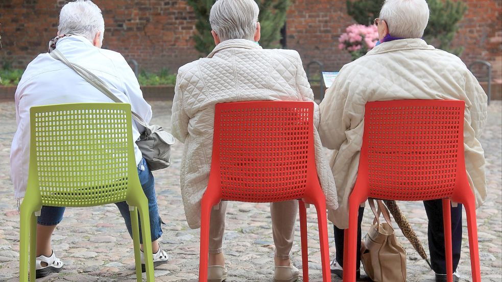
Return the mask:
{"type": "Polygon", "coordinates": [[[229,102],[215,110],[211,169],[219,170],[222,199],[302,198],[315,169],[314,104],[229,102]]]}

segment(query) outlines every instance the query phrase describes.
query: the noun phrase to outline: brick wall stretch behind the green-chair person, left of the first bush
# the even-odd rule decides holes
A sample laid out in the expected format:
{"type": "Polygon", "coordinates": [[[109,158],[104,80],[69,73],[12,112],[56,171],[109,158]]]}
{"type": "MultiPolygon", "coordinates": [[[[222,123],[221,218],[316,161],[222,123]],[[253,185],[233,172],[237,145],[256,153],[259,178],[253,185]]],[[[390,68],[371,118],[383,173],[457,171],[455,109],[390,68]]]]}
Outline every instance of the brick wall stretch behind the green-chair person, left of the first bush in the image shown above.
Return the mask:
{"type": "MultiPolygon", "coordinates": [[[[56,36],[59,11],[66,1],[0,1],[2,62],[25,67],[56,36]],[[47,4],[51,3],[51,4],[47,4]]],[[[134,59],[151,71],[177,68],[199,58],[192,47],[195,15],[186,1],[94,0],[105,19],[103,47],[134,59]]]]}

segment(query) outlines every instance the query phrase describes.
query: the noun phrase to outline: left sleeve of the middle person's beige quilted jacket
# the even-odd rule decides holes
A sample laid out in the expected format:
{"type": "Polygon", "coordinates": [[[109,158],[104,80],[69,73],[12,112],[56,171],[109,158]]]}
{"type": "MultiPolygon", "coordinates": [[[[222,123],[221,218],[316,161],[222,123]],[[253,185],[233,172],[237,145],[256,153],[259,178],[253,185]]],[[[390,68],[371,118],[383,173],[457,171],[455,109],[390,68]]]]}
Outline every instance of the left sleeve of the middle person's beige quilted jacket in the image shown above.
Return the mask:
{"type": "Polygon", "coordinates": [[[188,121],[190,118],[186,114],[183,105],[183,93],[181,90],[181,74],[178,72],[176,86],[174,88],[173,108],[171,109],[171,133],[181,143],[185,143],[188,137],[188,121]]]}

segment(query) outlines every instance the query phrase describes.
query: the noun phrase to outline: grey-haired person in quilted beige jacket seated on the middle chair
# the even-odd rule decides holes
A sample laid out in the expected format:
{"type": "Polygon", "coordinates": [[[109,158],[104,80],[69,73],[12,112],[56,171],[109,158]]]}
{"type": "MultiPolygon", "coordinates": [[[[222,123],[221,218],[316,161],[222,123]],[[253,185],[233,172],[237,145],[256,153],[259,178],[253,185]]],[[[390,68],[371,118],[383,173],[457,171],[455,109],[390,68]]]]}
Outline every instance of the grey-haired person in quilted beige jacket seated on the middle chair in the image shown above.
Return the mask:
{"type": "MultiPolygon", "coordinates": [[[[207,56],[178,71],[172,110],[172,132],[185,143],[181,164],[181,193],[188,225],[200,227],[201,199],[211,166],[214,105],[251,100],[312,101],[302,61],[295,50],[262,49],[258,6],[253,0],[219,0],[211,8],[209,21],[216,48],[207,56]]],[[[319,121],[317,105],[315,124],[319,121]]],[[[321,186],[328,208],[337,207],[336,188],[316,134],[316,157],[321,186]]],[[[227,202],[212,210],[209,231],[210,281],[227,277],[223,256],[223,232],[227,202]]],[[[270,205],[275,251],[275,281],[295,281],[290,260],[298,204],[295,201],[270,205]]]]}

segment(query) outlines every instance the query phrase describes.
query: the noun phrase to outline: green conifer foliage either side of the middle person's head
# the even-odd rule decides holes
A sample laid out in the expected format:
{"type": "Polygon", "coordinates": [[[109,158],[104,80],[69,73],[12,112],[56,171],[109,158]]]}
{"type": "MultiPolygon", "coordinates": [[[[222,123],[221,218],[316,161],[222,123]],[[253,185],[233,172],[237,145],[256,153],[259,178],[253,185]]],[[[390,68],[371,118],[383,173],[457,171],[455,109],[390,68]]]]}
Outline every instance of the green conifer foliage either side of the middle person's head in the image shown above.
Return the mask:
{"type": "MultiPolygon", "coordinates": [[[[209,24],[209,11],[215,0],[188,0],[194,8],[197,22],[194,35],[195,48],[202,54],[209,54],[214,48],[214,41],[209,24]]],[[[261,25],[260,45],[267,48],[279,47],[280,30],[286,20],[286,11],[290,0],[255,0],[260,9],[258,21],[261,25]]]]}

